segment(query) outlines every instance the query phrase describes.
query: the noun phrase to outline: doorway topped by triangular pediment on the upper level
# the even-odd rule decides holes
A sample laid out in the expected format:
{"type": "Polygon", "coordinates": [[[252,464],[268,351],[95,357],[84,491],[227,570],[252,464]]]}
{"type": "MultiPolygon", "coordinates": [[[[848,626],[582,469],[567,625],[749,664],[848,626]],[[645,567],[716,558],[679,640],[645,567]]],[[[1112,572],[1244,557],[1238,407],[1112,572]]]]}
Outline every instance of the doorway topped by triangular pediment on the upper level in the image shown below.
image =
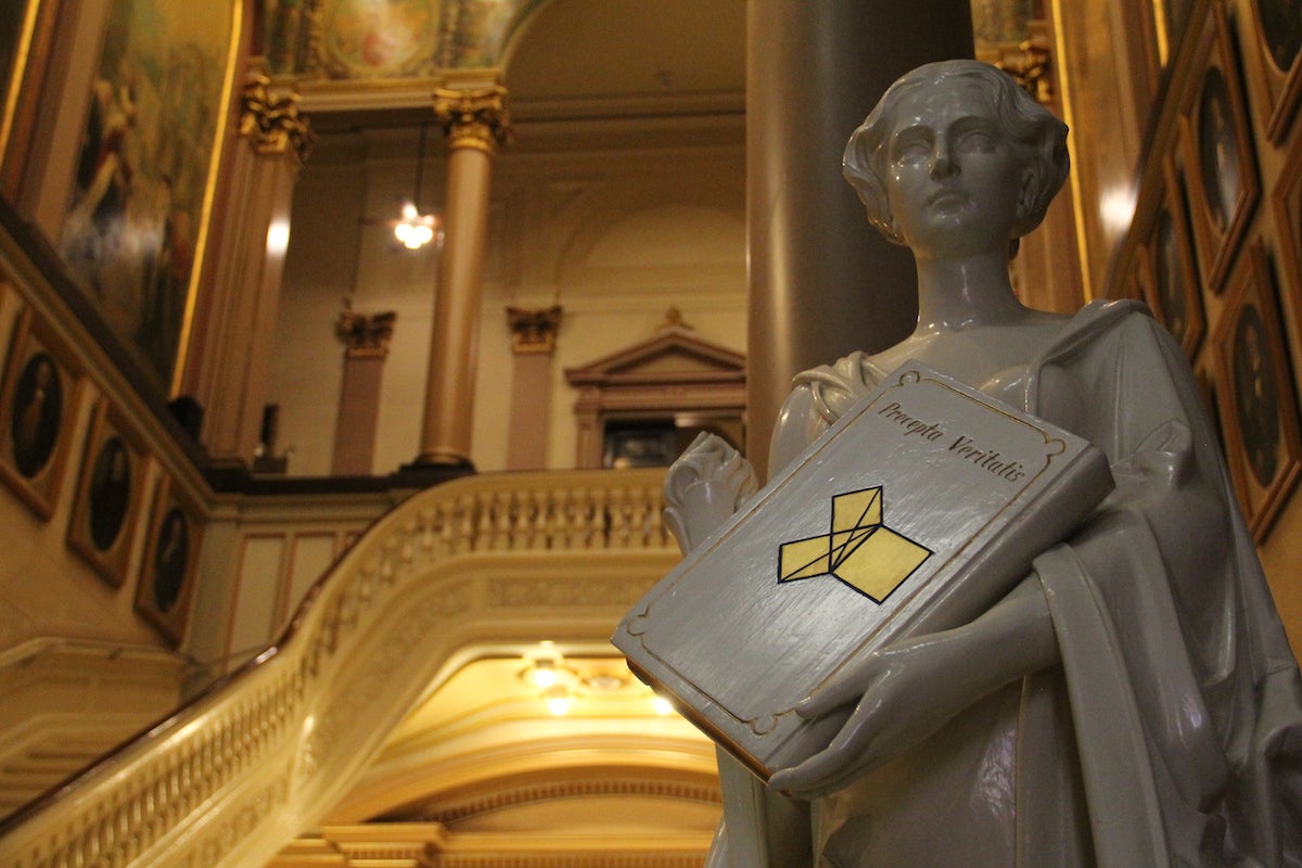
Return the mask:
{"type": "Polygon", "coordinates": [[[669,463],[699,431],[743,442],[745,354],[681,324],[566,368],[565,380],[578,390],[579,467],[669,463]]]}

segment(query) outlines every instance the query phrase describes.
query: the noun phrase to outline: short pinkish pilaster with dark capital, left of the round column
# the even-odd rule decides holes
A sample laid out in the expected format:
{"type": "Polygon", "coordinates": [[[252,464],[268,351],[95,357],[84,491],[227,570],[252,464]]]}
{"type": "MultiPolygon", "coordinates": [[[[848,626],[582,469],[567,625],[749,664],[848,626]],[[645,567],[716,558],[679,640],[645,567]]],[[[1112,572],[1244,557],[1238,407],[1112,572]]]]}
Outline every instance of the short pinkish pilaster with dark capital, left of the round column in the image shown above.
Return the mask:
{"type": "Polygon", "coordinates": [[[375,423],[380,414],[380,381],[397,314],[345,310],[335,332],[344,341],[344,379],[335,420],[335,476],[368,476],[375,463],[375,423]]]}

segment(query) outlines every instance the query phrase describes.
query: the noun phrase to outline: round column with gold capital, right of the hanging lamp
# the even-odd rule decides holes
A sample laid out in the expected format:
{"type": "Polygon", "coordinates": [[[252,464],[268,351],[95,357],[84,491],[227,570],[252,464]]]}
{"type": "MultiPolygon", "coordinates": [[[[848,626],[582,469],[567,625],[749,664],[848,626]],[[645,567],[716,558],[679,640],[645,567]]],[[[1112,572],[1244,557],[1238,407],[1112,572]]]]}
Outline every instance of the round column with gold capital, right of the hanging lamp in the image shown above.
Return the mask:
{"type": "Polygon", "coordinates": [[[448,138],[448,190],[417,465],[470,465],[488,189],[493,156],[509,134],[505,100],[500,86],[435,94],[448,138]]]}

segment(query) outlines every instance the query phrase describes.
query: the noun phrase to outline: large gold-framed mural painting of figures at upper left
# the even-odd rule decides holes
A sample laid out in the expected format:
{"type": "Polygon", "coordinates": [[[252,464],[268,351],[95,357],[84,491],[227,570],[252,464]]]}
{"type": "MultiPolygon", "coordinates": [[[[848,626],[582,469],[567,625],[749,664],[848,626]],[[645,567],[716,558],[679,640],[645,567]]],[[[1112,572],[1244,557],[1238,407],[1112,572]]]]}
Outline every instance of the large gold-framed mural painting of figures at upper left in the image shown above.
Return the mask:
{"type": "Polygon", "coordinates": [[[60,254],[168,390],[202,271],[247,4],[105,1],[60,254]]]}

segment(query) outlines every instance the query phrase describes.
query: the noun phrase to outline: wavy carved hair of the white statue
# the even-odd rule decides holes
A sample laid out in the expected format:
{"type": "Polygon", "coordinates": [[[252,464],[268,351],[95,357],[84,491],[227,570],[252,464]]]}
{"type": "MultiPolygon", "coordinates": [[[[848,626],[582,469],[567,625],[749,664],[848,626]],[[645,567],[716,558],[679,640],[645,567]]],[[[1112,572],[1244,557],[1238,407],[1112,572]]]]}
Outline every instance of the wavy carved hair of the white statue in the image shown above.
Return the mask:
{"type": "Polygon", "coordinates": [[[1030,182],[1018,203],[1014,236],[1025,236],[1040,224],[1049,202],[1066,180],[1066,124],[1053,117],[1022,90],[1012,75],[978,60],[944,60],[918,66],[887,88],[881,100],[859,125],[845,147],[841,161],[845,180],[868,210],[868,221],[896,243],[905,243],[891,213],[883,185],[887,137],[900,99],[918,87],[948,78],[970,78],[990,94],[1000,126],[1026,151],[1030,182]]]}

